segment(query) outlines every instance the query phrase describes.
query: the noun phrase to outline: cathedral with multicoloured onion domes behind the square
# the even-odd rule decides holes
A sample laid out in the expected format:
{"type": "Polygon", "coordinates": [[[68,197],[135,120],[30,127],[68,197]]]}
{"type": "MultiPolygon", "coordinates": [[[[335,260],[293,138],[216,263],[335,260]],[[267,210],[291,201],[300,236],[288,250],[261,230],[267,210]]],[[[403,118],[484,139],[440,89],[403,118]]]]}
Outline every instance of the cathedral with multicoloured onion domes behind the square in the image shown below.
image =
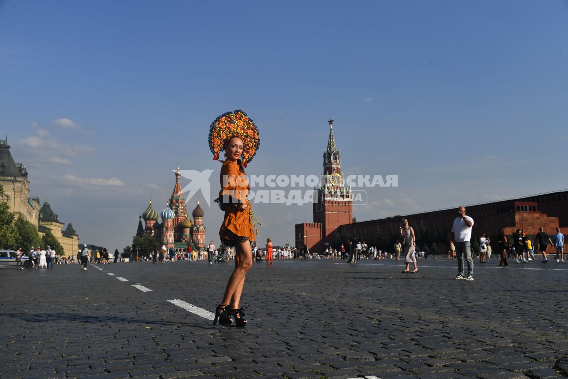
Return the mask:
{"type": "Polygon", "coordinates": [[[204,212],[199,201],[191,213],[191,218],[187,217],[185,198],[179,182],[179,166],[176,170],[176,186],[166,207],[160,213],[162,222],[158,222],[158,213],[152,207],[152,199],[148,208],[140,216],[136,236],[153,236],[161,241],[166,248],[179,249],[185,251],[189,246],[194,250],[205,248],[205,226],[203,225],[204,212]],[[142,222],[144,220],[144,224],[142,222]]]}

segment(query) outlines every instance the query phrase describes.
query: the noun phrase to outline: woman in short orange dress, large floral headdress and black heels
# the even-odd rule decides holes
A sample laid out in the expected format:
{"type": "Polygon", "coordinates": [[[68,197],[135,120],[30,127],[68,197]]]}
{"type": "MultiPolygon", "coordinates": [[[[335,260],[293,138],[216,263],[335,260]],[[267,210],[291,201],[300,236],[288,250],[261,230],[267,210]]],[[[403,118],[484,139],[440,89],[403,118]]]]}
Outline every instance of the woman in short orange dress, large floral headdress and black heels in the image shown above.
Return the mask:
{"type": "Polygon", "coordinates": [[[258,130],[243,111],[225,113],[211,124],[209,142],[214,159],[218,159],[220,150],[225,151],[227,158],[221,168],[219,198],[215,199],[225,211],[219,236],[225,246],[235,247],[235,270],[229,277],[221,303],[215,309],[214,325],[219,320],[220,324],[228,326],[233,319],[237,327],[247,324],[239,302],[245,276],[252,267],[250,243],[254,241],[255,216],[250,209],[250,187],[244,167],[256,153],[258,141],[258,130]]]}

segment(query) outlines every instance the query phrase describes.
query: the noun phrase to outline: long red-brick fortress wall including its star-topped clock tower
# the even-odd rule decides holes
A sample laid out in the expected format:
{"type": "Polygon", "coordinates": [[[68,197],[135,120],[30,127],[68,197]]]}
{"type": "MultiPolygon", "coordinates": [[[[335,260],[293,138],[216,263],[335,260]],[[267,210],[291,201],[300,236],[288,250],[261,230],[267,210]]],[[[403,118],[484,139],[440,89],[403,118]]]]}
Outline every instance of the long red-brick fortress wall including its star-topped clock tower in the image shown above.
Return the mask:
{"type": "MultiPolygon", "coordinates": [[[[415,230],[420,225],[427,228],[430,234],[435,234],[435,238],[428,236],[428,247],[435,243],[438,251],[445,253],[449,249],[453,220],[461,205],[466,206],[466,214],[474,219],[472,240],[479,239],[485,233],[495,252],[498,251],[499,229],[504,229],[509,238],[520,229],[532,236],[534,241],[534,235],[540,227],[550,236],[557,227],[568,228],[568,190],[470,206],[456,204],[448,209],[353,223],[353,194],[344,186],[341,156],[333,136],[333,120],[328,123],[329,138],[323,153],[323,186],[318,190],[318,199],[314,202],[314,222],[295,225],[296,248],[306,244],[311,252],[321,254],[325,248],[339,249],[341,243],[346,244],[347,240],[353,238],[361,242],[367,239],[367,244],[373,244],[374,237],[382,234],[390,240],[398,234],[402,219],[406,218],[415,230]]],[[[417,240],[417,244],[420,243],[417,240]]],[[[392,251],[392,244],[385,248],[392,251]]]]}

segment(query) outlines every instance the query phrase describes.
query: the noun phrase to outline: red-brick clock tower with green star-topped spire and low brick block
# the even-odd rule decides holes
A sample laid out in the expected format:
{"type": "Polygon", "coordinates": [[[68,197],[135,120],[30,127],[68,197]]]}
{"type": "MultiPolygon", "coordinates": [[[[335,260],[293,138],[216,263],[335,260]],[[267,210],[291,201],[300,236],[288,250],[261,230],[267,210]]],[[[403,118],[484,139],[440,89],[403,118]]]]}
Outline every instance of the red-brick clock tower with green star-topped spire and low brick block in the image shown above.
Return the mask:
{"type": "Polygon", "coordinates": [[[296,224],[296,248],[304,244],[312,253],[323,253],[333,246],[335,230],[353,222],[353,193],[344,185],[341,155],[333,136],[333,120],[329,119],[329,138],[323,153],[323,175],[317,201],[314,202],[314,222],[296,224]]]}

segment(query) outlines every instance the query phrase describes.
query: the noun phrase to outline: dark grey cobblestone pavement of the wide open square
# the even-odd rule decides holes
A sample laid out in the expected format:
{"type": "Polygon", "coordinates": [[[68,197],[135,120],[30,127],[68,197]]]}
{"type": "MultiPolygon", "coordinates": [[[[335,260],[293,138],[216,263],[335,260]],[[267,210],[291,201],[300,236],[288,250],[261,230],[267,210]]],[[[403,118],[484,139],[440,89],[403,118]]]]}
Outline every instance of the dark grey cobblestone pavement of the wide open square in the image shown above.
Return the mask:
{"type": "Polygon", "coordinates": [[[568,375],[568,263],[490,260],[475,281],[453,280],[456,261],[418,264],[402,274],[395,260],[255,263],[244,330],[207,319],[232,263],[2,269],[0,377],[568,375]]]}

